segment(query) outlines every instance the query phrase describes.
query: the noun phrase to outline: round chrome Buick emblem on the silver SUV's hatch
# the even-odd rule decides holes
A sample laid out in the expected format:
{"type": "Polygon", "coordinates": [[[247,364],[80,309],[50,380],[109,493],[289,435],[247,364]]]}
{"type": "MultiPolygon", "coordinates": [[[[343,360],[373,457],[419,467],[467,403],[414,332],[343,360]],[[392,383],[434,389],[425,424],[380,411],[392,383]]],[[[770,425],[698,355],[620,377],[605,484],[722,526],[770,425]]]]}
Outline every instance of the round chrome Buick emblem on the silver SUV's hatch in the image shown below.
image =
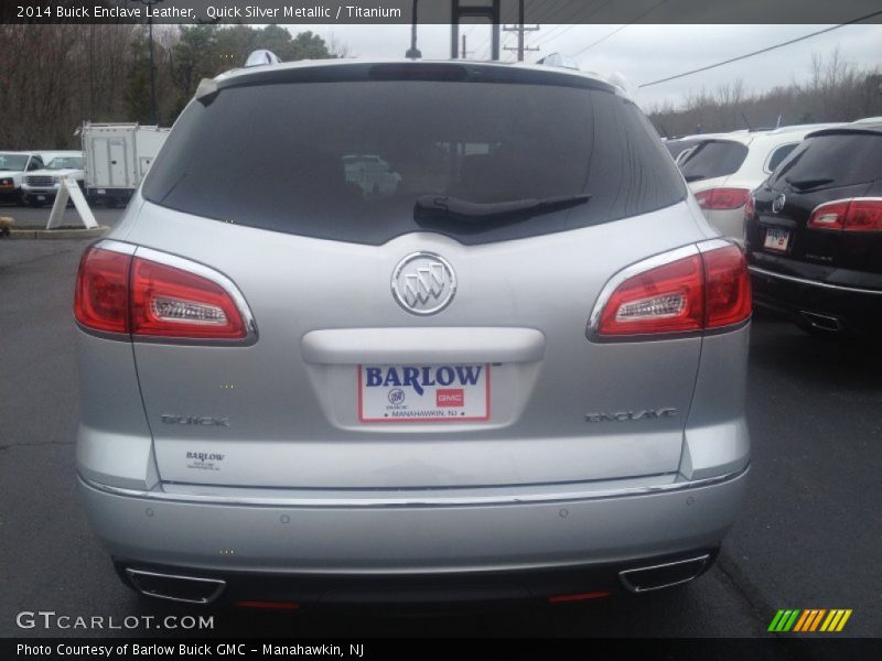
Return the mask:
{"type": "Polygon", "coordinates": [[[456,293],[453,267],[434,252],[413,252],[392,271],[392,296],[411,314],[429,315],[444,310],[456,293]]]}

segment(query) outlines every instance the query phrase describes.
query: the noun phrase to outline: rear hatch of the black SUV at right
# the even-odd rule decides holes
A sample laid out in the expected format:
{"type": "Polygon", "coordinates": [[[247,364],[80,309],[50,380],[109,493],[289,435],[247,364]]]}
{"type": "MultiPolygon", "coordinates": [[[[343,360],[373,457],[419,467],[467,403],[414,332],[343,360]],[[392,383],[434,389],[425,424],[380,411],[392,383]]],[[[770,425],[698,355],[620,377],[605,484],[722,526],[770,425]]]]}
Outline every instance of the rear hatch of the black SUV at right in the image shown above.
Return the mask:
{"type": "MultiPolygon", "coordinates": [[[[853,199],[882,217],[882,132],[843,128],[809,136],[755,194],[747,223],[751,261],[843,285],[858,285],[859,277],[867,286],[872,274],[882,275],[882,224],[842,227],[853,199]],[[813,213],[817,218],[825,209],[824,220],[809,225],[813,213]]],[[[882,289],[882,278],[876,280],[882,289]]]]}

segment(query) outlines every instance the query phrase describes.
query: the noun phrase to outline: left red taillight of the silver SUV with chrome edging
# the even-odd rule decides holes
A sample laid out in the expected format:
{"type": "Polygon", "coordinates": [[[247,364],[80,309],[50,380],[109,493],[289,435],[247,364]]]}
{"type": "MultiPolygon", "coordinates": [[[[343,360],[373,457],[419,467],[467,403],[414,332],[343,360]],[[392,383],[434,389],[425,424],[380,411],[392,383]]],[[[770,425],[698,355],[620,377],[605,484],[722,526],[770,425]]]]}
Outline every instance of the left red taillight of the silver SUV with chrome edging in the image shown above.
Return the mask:
{"type": "Polygon", "coordinates": [[[149,257],[141,257],[133,254],[135,247],[117,250],[100,243],[86,250],[74,300],[80,326],[135,339],[223,342],[249,336],[250,315],[224,277],[202,264],[147,252],[149,257]]]}

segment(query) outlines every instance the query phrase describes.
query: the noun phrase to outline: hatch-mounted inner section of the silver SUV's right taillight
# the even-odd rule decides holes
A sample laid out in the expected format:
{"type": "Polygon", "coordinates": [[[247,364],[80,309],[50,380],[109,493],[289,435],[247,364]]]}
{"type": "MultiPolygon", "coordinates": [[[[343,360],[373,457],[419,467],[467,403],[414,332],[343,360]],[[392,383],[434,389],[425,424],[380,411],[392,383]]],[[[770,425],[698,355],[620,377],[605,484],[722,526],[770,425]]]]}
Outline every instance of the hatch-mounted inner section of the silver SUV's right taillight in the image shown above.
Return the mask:
{"type": "Polygon", "coordinates": [[[625,280],[601,315],[600,335],[648,335],[700,330],[703,274],[698,254],[625,280]]]}

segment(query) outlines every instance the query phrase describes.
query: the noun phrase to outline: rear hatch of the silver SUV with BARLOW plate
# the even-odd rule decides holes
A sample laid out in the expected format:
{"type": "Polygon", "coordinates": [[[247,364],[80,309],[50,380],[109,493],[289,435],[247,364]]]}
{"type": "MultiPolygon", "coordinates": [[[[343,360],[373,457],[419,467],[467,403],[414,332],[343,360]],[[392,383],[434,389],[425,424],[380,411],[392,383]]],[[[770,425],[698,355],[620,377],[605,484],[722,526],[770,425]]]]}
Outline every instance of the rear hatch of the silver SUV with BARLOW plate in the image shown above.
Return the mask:
{"type": "Polygon", "coordinates": [[[612,275],[703,238],[612,87],[441,64],[232,78],[184,111],[143,195],[125,240],[226,275],[258,329],[136,343],[166,483],[676,473],[701,338],[587,338],[612,275]]]}

